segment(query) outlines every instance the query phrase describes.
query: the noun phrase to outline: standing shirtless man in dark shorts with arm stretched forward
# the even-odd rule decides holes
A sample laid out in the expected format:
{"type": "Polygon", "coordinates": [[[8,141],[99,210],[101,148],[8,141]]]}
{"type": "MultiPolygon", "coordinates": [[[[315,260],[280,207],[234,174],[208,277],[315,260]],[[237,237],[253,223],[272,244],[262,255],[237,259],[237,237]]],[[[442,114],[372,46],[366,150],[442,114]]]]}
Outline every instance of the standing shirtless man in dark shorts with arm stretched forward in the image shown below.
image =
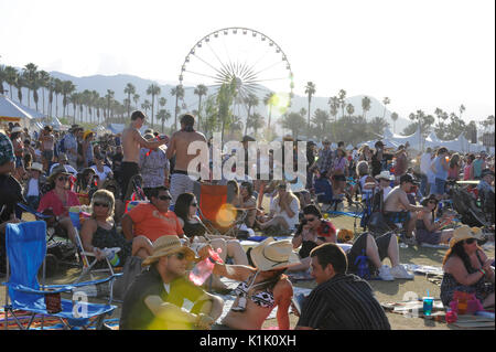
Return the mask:
{"type": "Polygon", "coordinates": [[[128,184],[131,178],[139,173],[138,162],[140,161],[141,148],[155,149],[169,141],[169,138],[163,138],[158,141],[149,141],[144,139],[139,129],[144,124],[144,114],[142,111],[133,111],[131,114],[131,124],[122,131],[122,151],[123,158],[121,163],[121,191],[122,200],[125,201],[128,184]]]}

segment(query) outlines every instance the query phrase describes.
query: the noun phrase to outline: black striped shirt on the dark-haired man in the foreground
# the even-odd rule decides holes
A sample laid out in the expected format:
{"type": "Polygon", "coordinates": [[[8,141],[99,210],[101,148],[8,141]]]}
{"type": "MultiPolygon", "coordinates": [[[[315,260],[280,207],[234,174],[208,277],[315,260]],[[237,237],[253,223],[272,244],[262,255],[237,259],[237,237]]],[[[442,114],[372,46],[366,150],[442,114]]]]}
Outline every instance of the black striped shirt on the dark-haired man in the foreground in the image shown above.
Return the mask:
{"type": "Polygon", "coordinates": [[[305,299],[299,327],[321,330],[390,330],[382,307],[367,281],[337,274],[305,299]]]}

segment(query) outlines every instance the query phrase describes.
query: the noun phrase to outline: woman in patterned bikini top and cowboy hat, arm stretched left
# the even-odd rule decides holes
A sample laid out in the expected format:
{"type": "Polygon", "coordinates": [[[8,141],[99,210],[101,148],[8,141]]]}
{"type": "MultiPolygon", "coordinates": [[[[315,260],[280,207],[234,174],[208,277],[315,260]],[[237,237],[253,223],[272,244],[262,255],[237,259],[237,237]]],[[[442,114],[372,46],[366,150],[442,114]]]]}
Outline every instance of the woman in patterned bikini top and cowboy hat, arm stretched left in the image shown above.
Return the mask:
{"type": "MultiPolygon", "coordinates": [[[[198,253],[201,256],[206,250],[202,249],[198,253]]],[[[244,265],[215,264],[215,275],[240,281],[235,290],[236,300],[223,319],[222,326],[231,330],[260,330],[277,307],[279,329],[288,330],[290,328],[288,310],[293,296],[293,287],[283,274],[289,266],[299,263],[298,255],[292,253],[291,242],[274,242],[269,237],[251,250],[251,259],[256,268],[244,265]],[[273,247],[283,245],[288,248],[288,255],[276,257],[271,255],[276,250],[271,252],[270,248],[263,250],[270,244],[274,244],[273,247]]]]}

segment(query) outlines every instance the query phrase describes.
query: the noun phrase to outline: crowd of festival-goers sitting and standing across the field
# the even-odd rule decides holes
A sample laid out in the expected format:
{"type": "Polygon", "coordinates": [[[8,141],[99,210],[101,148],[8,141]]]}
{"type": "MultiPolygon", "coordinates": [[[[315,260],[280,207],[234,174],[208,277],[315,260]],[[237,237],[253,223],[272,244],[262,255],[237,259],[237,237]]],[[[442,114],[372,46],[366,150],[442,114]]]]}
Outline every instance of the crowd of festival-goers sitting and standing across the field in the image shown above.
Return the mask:
{"type": "MultiPolygon", "coordinates": [[[[132,113],[118,135],[97,136],[78,125],[65,134],[50,126],[30,132],[12,124],[0,134],[0,271],[6,225],[21,221],[17,203],[52,215],[74,244],[78,232],[68,211],[88,205],[91,217],[80,228],[84,249],[103,259],[103,248],[119,247],[121,266],[138,257],[145,268],[127,290],[121,329],[261,329],[276,307],[279,328],[289,329],[289,276],[295,271],[310,273],[317,284],[301,310],[293,309],[300,316],[298,329],[390,329],[357,258],[366,257],[367,271],[379,279],[413,279],[400,264],[396,234],[365,232],[343,238],[319,205],[322,200],[343,204],[345,199],[351,205],[359,195],[371,213],[378,210],[385,222],[398,226],[403,242],[449,244],[441,287],[445,306],[454,290],[475,290],[484,307],[494,306],[494,259],[476,245],[479,234],[468,226],[445,230],[453,215],[436,212],[449,198],[448,180],[478,180],[478,193],[494,200],[494,157],[451,153],[444,147],[412,156],[408,145],[391,150],[382,141],[374,149],[364,145],[353,150],[339,141],[333,150],[327,139],[317,150],[309,141],[306,184],[298,192],[292,191],[293,180],[272,180],[272,174],[268,181],[246,177],[217,182],[234,190],[229,203],[244,214],[244,228],[268,236],[247,252],[239,238],[212,233],[200,216],[194,193],[198,181],[188,172],[200,151],[188,154],[187,148],[207,139],[194,129],[194,116],[184,115],[181,130],[170,138],[153,130],[142,136],[145,118],[132,113]],[[127,211],[137,175],[145,201],[127,211]],[[323,199],[317,184],[324,185],[323,199]],[[261,205],[265,196],[270,198],[269,210],[261,205]],[[271,235],[291,239],[273,241],[271,235]],[[187,280],[186,273],[211,248],[219,249],[223,262],[215,262],[207,291],[187,280]],[[218,321],[224,302],[215,294],[229,291],[223,277],[239,285],[229,313],[218,321]]],[[[242,139],[245,150],[251,140],[242,139]]]]}

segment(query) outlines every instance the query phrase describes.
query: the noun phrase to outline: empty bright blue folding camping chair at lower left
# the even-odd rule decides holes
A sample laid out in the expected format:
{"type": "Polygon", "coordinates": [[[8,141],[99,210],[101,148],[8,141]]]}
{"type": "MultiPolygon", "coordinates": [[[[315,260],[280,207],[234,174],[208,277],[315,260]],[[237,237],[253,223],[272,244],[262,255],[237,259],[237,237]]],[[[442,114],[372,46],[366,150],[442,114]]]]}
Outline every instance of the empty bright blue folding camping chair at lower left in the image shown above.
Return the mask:
{"type": "MultiPolygon", "coordinates": [[[[100,329],[106,314],[111,314],[117,308],[111,306],[111,297],[108,305],[89,303],[84,300],[85,296],[80,294],[79,287],[88,285],[103,284],[110,281],[114,277],[103,280],[79,282],[72,285],[45,285],[45,255],[46,255],[46,224],[43,221],[26,222],[19,224],[8,224],[6,231],[7,247],[7,273],[10,269],[6,290],[6,329],[8,327],[9,312],[14,318],[20,329],[31,328],[36,316],[42,316],[42,326],[44,317],[55,317],[61,320],[66,329],[82,327],[87,329],[96,320],[96,328],[100,329]],[[37,280],[37,273],[43,265],[43,284],[37,280]],[[48,312],[46,307],[46,297],[61,295],[62,292],[73,292],[73,299],[60,299],[58,312],[48,312]],[[50,296],[47,296],[50,295],[50,296]],[[11,303],[9,303],[9,300],[11,303]],[[24,327],[17,317],[18,311],[29,312],[31,318],[24,327]]],[[[57,309],[57,310],[58,310],[57,309]]]]}

